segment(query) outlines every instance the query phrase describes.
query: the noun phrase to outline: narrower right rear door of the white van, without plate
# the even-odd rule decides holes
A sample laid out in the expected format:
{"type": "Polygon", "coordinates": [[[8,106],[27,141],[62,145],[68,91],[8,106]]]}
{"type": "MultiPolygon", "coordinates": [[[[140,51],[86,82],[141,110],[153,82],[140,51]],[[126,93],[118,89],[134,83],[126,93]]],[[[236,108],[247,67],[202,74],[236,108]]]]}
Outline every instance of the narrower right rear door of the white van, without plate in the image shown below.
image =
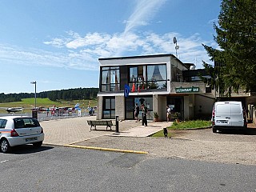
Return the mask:
{"type": "Polygon", "coordinates": [[[231,106],[231,125],[244,126],[242,103],[230,102],[231,106]]]}

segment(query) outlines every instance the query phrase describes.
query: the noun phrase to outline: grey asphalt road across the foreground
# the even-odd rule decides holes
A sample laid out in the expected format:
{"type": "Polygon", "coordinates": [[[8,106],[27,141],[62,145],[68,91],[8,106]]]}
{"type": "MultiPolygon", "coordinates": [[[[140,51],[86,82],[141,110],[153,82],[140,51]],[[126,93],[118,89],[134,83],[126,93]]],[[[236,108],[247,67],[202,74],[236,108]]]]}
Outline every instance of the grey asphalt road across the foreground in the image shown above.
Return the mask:
{"type": "Polygon", "coordinates": [[[255,191],[256,166],[63,146],[0,154],[2,191],[255,191]]]}

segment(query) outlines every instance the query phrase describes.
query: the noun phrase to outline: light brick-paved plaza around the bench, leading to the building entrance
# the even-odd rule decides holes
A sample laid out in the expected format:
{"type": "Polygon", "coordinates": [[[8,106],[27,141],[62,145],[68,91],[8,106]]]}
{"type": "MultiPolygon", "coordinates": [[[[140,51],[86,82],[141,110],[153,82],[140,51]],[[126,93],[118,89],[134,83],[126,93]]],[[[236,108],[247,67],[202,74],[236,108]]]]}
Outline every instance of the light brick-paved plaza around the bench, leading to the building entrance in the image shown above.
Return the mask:
{"type": "MultiPolygon", "coordinates": [[[[90,130],[87,120],[95,120],[95,116],[81,118],[66,118],[40,122],[45,133],[45,144],[66,145],[75,142],[82,142],[103,135],[126,136],[126,137],[147,137],[154,134],[163,127],[170,126],[172,122],[150,122],[148,126],[142,126],[142,122],[126,120],[119,122],[119,132],[106,131],[106,126],[97,126],[97,130],[90,130]]],[[[115,124],[115,122],[114,122],[115,124]]]]}

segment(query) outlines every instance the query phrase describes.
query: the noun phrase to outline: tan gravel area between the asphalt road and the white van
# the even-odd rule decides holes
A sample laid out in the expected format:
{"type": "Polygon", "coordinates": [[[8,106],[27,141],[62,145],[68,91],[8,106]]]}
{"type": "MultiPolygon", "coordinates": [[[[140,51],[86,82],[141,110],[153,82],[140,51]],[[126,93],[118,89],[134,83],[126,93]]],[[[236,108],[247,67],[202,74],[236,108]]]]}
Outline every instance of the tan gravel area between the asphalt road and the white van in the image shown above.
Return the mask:
{"type": "Polygon", "coordinates": [[[74,145],[146,151],[166,158],[256,165],[255,131],[213,134],[211,129],[174,130],[172,138],[101,136],[74,145]]]}

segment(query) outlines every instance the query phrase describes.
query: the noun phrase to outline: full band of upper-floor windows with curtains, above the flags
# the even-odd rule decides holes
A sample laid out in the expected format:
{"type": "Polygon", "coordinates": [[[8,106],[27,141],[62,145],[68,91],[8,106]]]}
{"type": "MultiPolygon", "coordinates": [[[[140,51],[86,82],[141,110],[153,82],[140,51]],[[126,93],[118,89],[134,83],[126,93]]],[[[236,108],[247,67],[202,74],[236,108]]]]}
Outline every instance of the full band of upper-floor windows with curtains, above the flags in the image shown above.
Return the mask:
{"type": "Polygon", "coordinates": [[[102,92],[121,91],[125,84],[130,86],[131,92],[166,89],[166,64],[126,66],[121,69],[122,74],[120,74],[119,66],[101,68],[100,90],[102,92]]]}

